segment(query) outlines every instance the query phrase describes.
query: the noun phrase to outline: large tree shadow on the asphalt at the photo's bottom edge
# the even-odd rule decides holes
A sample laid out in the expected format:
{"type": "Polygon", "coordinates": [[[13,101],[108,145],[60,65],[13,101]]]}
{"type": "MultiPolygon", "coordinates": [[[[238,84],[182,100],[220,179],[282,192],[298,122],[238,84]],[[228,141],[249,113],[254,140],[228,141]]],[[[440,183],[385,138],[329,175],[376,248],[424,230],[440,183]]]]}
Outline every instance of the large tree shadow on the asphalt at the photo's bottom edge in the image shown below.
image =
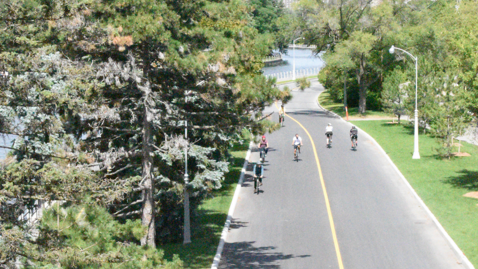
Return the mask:
{"type": "Polygon", "coordinates": [[[277,261],[291,258],[306,258],[310,255],[294,256],[275,252],[277,247],[254,247],[255,241],[226,243],[223,250],[220,269],[276,269],[277,261]]]}

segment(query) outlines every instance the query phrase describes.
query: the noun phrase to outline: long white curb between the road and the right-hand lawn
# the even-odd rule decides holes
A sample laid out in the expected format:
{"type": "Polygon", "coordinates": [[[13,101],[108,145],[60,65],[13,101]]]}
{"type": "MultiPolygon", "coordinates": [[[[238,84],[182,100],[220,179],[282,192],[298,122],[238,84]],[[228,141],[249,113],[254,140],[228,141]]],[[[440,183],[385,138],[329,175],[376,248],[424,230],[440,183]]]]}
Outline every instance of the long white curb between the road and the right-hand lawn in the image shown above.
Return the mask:
{"type": "MultiPolygon", "coordinates": [[[[349,123],[347,122],[346,120],[344,120],[341,116],[337,115],[337,113],[334,113],[332,111],[329,111],[329,110],[326,110],[325,108],[323,108],[320,103],[319,103],[319,100],[318,99],[315,99],[317,101],[317,104],[319,105],[319,107],[321,109],[323,109],[324,111],[326,112],[329,112],[329,113],[332,113],[334,114],[335,116],[339,117],[342,121],[352,125],[352,123],[349,123]]],[[[390,162],[391,166],[395,169],[395,171],[398,173],[398,175],[402,178],[403,182],[405,182],[405,185],[407,185],[407,187],[410,189],[410,191],[413,193],[413,196],[415,196],[415,198],[418,200],[418,202],[422,205],[422,207],[424,208],[425,212],[428,214],[428,216],[433,220],[433,223],[435,224],[435,226],[438,228],[438,231],[440,231],[441,235],[443,237],[445,237],[445,240],[446,240],[446,243],[448,243],[448,247],[450,247],[453,252],[455,253],[455,255],[458,257],[458,260],[461,262],[462,265],[465,266],[465,268],[467,269],[475,269],[475,267],[473,266],[473,264],[468,260],[467,256],[465,256],[465,254],[463,253],[463,251],[460,250],[460,248],[456,245],[455,241],[453,241],[453,239],[450,237],[450,235],[448,235],[448,233],[445,231],[445,229],[443,228],[442,224],[440,224],[438,222],[438,220],[436,219],[435,215],[430,211],[430,209],[428,209],[428,206],[426,206],[426,204],[423,202],[422,198],[420,198],[420,196],[418,196],[418,194],[416,193],[415,190],[413,190],[413,187],[412,185],[410,185],[410,183],[408,182],[407,179],[405,179],[405,177],[403,176],[402,172],[400,172],[400,170],[397,168],[397,166],[393,163],[393,161],[391,160],[391,158],[387,155],[387,153],[385,152],[385,150],[383,150],[383,148],[379,145],[379,143],[377,143],[377,141],[375,141],[375,139],[370,135],[370,134],[367,134],[364,130],[360,129],[359,127],[355,126],[357,129],[359,129],[361,132],[363,132],[364,134],[366,134],[369,139],[375,144],[375,146],[377,146],[380,151],[383,153],[383,155],[385,155],[385,157],[387,158],[387,160],[390,162]]]]}

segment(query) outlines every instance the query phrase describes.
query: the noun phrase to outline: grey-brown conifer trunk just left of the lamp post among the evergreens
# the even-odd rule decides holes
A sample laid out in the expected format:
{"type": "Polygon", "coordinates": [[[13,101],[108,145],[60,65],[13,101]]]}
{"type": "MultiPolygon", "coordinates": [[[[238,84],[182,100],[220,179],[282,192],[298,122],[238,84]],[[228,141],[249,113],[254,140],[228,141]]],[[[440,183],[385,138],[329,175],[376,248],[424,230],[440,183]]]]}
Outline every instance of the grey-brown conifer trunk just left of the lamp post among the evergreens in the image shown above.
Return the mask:
{"type": "Polygon", "coordinates": [[[154,224],[154,200],[153,200],[153,177],[152,177],[152,157],[151,153],[151,121],[148,119],[147,106],[144,111],[143,120],[143,170],[142,177],[144,179],[143,206],[142,206],[142,225],[147,227],[146,234],[141,238],[141,246],[148,245],[155,247],[155,230],[154,224]]]}

